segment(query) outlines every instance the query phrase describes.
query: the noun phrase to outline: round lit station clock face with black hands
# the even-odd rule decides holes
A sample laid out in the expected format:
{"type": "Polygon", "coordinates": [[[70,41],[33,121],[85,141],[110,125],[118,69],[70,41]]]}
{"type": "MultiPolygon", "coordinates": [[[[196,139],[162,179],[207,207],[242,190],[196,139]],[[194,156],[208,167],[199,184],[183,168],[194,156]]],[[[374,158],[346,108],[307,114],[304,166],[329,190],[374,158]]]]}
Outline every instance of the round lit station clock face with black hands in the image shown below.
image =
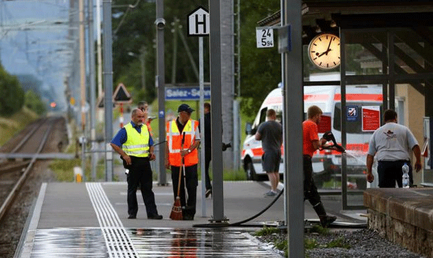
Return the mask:
{"type": "Polygon", "coordinates": [[[334,34],[315,36],[308,50],[311,62],[320,69],[333,69],[340,65],[340,38],[334,34]]]}

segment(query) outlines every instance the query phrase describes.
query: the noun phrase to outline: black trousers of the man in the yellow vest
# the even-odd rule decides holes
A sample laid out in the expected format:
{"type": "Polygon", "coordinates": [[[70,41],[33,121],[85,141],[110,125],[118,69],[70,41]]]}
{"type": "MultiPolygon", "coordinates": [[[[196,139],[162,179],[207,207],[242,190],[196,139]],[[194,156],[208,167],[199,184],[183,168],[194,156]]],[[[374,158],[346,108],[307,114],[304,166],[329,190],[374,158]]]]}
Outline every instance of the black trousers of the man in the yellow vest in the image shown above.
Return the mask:
{"type": "Polygon", "coordinates": [[[155,204],[155,195],[152,191],[153,178],[149,158],[131,157],[131,165],[126,166],[129,173],[126,177],[128,182],[128,214],[137,215],[137,188],[140,184],[140,190],[144,205],[146,206],[147,217],[153,217],[158,214],[155,204]]]}

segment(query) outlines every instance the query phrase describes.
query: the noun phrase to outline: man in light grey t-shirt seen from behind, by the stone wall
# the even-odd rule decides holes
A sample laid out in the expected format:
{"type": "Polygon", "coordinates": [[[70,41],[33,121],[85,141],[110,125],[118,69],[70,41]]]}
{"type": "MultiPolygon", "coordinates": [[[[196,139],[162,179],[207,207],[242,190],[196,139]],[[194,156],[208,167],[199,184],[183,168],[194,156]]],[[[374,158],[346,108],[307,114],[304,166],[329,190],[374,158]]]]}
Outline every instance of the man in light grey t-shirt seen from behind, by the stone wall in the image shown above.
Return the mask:
{"type": "Polygon", "coordinates": [[[409,165],[410,184],[413,184],[412,166],[410,165],[410,149],[414,151],[414,168],[421,170],[421,149],[412,132],[403,125],[397,124],[397,113],[392,109],[384,112],[385,125],[379,127],[371,136],[367,153],[367,181],[375,179],[371,172],[374,156],[377,155],[379,187],[393,188],[395,182],[402,186],[403,164],[409,165]]]}

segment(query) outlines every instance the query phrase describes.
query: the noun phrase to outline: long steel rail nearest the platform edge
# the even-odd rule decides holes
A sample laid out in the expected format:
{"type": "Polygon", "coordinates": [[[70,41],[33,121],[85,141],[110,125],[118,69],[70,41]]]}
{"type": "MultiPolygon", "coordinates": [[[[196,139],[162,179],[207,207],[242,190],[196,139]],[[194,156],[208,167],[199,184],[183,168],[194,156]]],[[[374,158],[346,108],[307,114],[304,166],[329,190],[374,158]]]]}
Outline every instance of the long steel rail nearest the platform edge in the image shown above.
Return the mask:
{"type": "MultiPolygon", "coordinates": [[[[29,172],[32,169],[32,166],[33,166],[34,162],[36,161],[36,155],[38,153],[41,153],[43,147],[45,146],[45,143],[47,142],[47,138],[49,136],[49,133],[51,133],[52,128],[54,126],[54,120],[48,119],[48,122],[49,122],[49,127],[48,127],[47,131],[45,131],[45,134],[41,140],[41,143],[39,144],[38,150],[36,151],[34,157],[30,161],[30,164],[25,169],[23,175],[21,175],[19,180],[14,185],[12,191],[10,191],[8,197],[6,197],[6,200],[3,202],[3,204],[0,207],[0,222],[3,220],[5,214],[7,213],[8,209],[10,208],[12,202],[15,200],[16,195],[18,195],[19,189],[21,189],[21,186],[23,186],[25,180],[27,179],[27,176],[29,175],[29,172]]],[[[41,125],[39,127],[41,127],[41,125]]],[[[32,133],[34,133],[34,131],[32,131],[32,133]]]]}

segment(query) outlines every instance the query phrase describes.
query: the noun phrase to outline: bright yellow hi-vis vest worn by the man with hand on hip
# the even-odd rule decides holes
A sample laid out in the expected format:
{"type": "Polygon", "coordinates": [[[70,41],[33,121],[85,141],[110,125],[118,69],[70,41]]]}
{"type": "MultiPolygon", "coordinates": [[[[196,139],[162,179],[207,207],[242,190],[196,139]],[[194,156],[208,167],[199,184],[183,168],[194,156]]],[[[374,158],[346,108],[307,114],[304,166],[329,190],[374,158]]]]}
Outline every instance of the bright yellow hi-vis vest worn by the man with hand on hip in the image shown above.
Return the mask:
{"type": "Polygon", "coordinates": [[[142,132],[138,133],[131,122],[125,125],[126,142],[122,144],[122,149],[127,155],[135,157],[148,157],[149,155],[149,132],[146,126],[142,126],[142,132]]]}

